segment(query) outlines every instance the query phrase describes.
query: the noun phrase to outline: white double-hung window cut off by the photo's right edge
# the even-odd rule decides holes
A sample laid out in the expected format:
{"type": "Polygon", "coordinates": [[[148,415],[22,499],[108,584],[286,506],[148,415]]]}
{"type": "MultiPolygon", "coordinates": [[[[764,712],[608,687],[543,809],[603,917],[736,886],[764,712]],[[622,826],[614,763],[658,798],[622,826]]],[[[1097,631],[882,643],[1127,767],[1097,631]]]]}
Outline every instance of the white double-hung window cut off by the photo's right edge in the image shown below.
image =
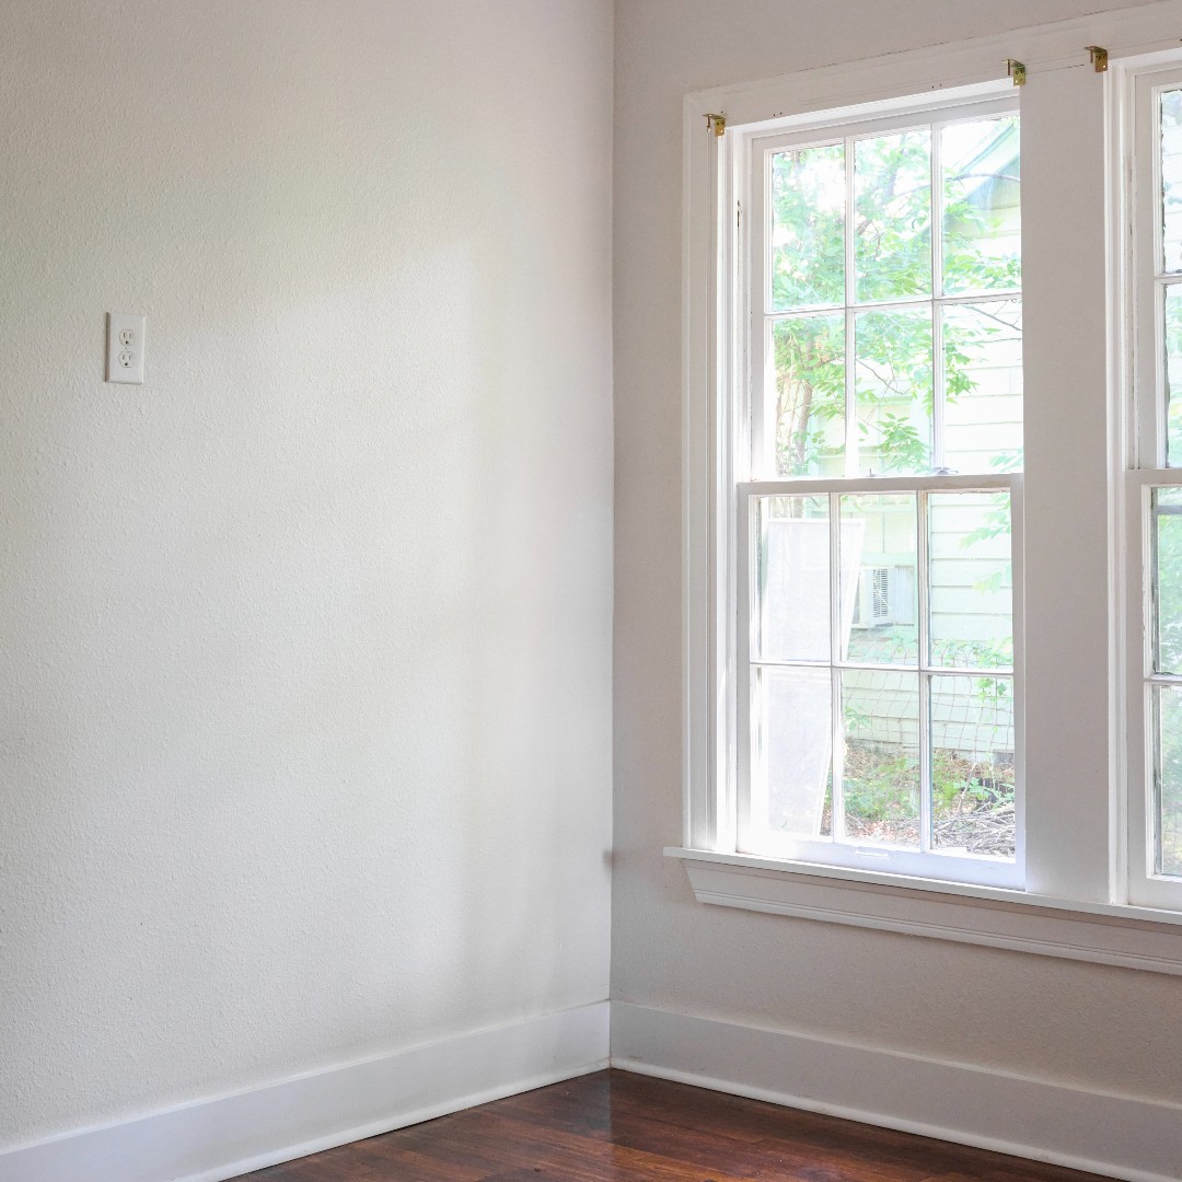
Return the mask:
{"type": "Polygon", "coordinates": [[[1130,894],[1182,907],[1182,65],[1129,97],[1130,894]]]}

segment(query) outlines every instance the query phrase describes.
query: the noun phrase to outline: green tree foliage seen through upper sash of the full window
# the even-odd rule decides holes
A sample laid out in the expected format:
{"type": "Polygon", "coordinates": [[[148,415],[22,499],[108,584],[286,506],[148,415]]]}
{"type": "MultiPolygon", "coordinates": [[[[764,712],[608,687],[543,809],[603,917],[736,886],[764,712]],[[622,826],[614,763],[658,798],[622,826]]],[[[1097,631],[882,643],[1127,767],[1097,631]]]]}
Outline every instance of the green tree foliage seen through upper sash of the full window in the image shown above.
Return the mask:
{"type": "MultiPolygon", "coordinates": [[[[992,121],[982,131],[987,135],[968,168],[946,173],[942,181],[948,293],[1020,285],[1019,260],[991,254],[985,246],[995,228],[991,195],[1017,181],[1017,122],[992,121]]],[[[846,208],[842,144],[774,157],[772,300],[778,311],[803,313],[844,304],[847,216],[857,303],[931,294],[931,132],[918,129],[856,141],[852,156],[852,210],[846,208]]],[[[943,397],[955,401],[973,391],[974,350],[1006,329],[1009,325],[992,325],[987,314],[949,318],[943,397]]],[[[833,470],[833,460],[844,452],[845,331],[844,313],[793,314],[775,324],[775,448],[781,475],[833,470]]],[[[941,396],[934,389],[929,310],[921,305],[859,311],[855,337],[856,431],[863,468],[928,470],[933,403],[941,396]]]]}

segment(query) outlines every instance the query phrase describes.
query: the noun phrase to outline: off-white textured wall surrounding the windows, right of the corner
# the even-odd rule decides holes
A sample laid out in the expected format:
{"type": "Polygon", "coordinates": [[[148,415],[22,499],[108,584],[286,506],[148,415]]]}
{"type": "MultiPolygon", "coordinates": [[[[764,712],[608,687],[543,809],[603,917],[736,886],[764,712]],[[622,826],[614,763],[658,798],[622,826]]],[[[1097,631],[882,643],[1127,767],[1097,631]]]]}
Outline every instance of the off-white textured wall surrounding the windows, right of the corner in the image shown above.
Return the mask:
{"type": "Polygon", "coordinates": [[[1118,4],[619,0],[613,996],[1182,1100],[1178,981],[695,903],[681,865],[686,92],[1118,4]]]}

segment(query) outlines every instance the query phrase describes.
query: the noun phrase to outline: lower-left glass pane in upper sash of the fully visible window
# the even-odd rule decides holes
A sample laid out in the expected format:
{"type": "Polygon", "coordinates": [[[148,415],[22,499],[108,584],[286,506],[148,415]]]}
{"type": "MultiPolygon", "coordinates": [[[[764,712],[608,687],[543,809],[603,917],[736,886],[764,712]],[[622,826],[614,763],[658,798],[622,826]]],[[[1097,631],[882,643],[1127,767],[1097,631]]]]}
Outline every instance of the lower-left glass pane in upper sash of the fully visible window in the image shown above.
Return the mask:
{"type": "Polygon", "coordinates": [[[845,456],[845,317],[774,322],[775,468],[840,476],[845,456]]]}

